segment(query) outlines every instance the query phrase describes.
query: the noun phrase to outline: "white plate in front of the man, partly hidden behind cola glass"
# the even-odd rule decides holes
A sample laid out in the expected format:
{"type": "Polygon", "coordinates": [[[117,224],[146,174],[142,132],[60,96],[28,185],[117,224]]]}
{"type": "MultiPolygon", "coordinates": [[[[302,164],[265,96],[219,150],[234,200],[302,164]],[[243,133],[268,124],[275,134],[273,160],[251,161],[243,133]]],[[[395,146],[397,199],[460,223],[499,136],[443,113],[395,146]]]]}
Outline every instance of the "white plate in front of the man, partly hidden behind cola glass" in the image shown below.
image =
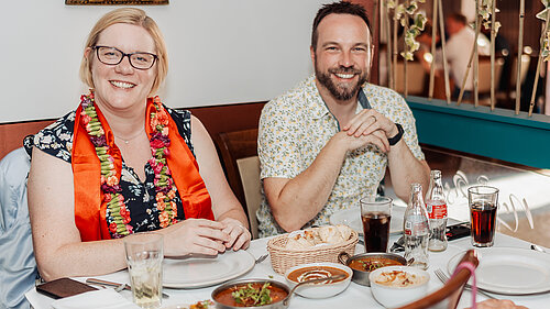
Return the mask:
{"type": "MultiPolygon", "coordinates": [[[[403,217],[405,216],[405,207],[392,207],[392,220],[389,221],[389,233],[400,234],[403,232],[403,217]]],[[[363,234],[363,222],[361,222],[361,210],[359,208],[350,208],[337,211],[330,216],[330,224],[344,224],[352,228],[355,232],[363,234]]]]}

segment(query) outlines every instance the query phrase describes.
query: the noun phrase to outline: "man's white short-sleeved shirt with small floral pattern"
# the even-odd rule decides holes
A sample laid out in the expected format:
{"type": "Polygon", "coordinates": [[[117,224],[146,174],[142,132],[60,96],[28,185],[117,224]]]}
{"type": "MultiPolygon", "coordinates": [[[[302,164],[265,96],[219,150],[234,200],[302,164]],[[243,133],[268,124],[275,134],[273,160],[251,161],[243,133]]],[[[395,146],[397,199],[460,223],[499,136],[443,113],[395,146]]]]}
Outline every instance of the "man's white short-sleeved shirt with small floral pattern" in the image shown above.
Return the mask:
{"type": "MultiPolygon", "coordinates": [[[[403,139],[406,144],[415,157],[424,159],[424,153],[418,145],[415,119],[403,97],[391,89],[371,84],[366,84],[363,91],[373,109],[403,125],[403,139]]],[[[358,103],[356,112],[362,109],[358,103]]],[[[297,88],[270,101],[262,110],[257,137],[262,183],[267,177],[298,176],[311,165],[328,141],[339,131],[337,119],[319,95],[315,75],[297,88]]],[[[327,203],[304,228],[327,224],[332,213],[359,207],[361,197],[376,192],[386,166],[387,155],[372,144],[349,152],[327,203]]],[[[263,191],[256,217],[260,236],[284,232],[274,220],[263,191]]]]}

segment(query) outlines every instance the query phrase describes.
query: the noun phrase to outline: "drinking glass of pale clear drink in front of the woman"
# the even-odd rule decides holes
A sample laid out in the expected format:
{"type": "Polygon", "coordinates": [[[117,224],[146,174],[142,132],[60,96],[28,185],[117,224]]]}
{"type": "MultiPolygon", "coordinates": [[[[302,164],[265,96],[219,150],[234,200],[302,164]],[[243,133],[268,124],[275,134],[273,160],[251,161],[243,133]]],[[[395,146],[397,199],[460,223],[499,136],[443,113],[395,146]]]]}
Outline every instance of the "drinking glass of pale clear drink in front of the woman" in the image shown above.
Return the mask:
{"type": "Polygon", "coordinates": [[[158,308],[163,293],[163,235],[135,233],[124,238],[128,271],[134,302],[158,308]]]}

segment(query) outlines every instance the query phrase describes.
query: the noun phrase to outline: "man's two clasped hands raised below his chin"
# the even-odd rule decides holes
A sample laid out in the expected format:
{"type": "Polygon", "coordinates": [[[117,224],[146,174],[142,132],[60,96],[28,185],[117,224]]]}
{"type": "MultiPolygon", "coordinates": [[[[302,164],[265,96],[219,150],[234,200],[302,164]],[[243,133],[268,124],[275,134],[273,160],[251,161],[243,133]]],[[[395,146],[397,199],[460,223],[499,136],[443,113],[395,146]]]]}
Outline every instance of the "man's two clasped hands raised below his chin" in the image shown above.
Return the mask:
{"type": "Polygon", "coordinates": [[[340,134],[345,135],[343,139],[348,142],[349,151],[373,144],[382,152],[387,153],[389,152],[389,142],[387,140],[398,132],[395,123],[384,114],[373,109],[365,109],[355,114],[342,128],[340,134]]]}

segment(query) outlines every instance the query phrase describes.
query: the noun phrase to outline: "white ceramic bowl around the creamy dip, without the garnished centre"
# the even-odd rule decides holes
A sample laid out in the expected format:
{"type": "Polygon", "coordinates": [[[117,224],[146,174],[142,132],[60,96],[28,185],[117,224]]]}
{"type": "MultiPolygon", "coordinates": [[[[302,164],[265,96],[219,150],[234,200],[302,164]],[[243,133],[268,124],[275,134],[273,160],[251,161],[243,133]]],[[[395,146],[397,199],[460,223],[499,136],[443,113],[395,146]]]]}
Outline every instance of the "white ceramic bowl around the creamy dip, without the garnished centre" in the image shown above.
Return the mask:
{"type": "Polygon", "coordinates": [[[428,272],[411,266],[386,266],[371,272],[371,291],[374,298],[386,308],[395,308],[410,304],[427,295],[430,274],[428,272]],[[419,283],[408,286],[388,286],[377,282],[382,273],[400,271],[409,275],[416,275],[419,283]]]}

